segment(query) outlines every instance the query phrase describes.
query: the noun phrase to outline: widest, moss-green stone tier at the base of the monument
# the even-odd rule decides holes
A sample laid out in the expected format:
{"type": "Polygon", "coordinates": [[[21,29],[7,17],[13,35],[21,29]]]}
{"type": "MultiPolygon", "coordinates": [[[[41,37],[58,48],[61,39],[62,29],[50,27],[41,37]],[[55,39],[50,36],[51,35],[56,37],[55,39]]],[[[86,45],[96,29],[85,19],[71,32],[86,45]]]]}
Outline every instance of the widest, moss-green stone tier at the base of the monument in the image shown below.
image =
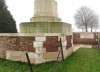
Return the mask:
{"type": "Polygon", "coordinates": [[[64,22],[24,22],[20,24],[20,33],[67,33],[71,25],[64,22]]]}

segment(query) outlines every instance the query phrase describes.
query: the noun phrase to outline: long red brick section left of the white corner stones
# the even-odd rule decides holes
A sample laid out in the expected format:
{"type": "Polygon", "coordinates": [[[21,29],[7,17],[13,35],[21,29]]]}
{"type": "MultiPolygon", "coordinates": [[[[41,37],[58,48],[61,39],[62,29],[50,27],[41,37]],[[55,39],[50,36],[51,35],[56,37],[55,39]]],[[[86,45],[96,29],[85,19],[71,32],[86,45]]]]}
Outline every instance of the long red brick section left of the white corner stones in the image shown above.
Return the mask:
{"type": "Polygon", "coordinates": [[[33,41],[35,37],[31,36],[0,36],[0,57],[5,58],[6,50],[35,52],[33,41]]]}

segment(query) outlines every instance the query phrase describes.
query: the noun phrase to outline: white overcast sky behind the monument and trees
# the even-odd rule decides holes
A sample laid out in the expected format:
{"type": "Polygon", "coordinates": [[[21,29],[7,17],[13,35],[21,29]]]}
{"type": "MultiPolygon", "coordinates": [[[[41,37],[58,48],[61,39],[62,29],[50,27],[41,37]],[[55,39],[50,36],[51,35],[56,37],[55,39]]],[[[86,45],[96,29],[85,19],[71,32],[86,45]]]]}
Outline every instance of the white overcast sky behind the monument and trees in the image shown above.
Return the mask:
{"type": "MultiPolygon", "coordinates": [[[[29,22],[34,14],[35,0],[6,0],[6,4],[17,26],[21,22],[29,22]]],[[[77,9],[81,6],[87,6],[94,10],[100,16],[100,1],[99,0],[56,0],[58,3],[58,16],[63,22],[70,23],[74,27],[74,18],[77,9]]]]}

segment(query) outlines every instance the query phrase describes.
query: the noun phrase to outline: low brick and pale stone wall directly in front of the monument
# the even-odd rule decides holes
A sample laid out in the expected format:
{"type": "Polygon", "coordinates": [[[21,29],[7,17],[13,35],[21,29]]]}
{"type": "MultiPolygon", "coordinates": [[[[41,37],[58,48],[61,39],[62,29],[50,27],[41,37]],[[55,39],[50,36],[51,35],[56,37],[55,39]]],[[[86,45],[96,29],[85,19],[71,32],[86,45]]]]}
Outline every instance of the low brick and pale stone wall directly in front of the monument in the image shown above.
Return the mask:
{"type": "Polygon", "coordinates": [[[0,58],[26,62],[25,51],[29,51],[30,56],[34,56],[34,59],[31,58],[31,60],[35,63],[56,60],[60,49],[59,37],[61,37],[63,52],[66,57],[73,52],[71,34],[63,36],[55,33],[29,34],[29,36],[16,34],[6,36],[4,34],[0,36],[0,58]]]}

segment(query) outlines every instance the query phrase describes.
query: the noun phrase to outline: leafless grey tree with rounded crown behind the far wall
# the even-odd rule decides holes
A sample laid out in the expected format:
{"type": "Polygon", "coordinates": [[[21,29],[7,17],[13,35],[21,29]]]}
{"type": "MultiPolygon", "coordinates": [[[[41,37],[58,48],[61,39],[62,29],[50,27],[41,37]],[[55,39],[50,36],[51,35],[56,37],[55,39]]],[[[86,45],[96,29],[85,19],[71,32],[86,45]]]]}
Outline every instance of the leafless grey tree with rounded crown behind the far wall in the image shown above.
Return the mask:
{"type": "Polygon", "coordinates": [[[77,28],[85,29],[86,32],[88,32],[88,28],[91,28],[92,31],[93,28],[98,27],[98,16],[86,6],[79,8],[74,18],[77,28]]]}

